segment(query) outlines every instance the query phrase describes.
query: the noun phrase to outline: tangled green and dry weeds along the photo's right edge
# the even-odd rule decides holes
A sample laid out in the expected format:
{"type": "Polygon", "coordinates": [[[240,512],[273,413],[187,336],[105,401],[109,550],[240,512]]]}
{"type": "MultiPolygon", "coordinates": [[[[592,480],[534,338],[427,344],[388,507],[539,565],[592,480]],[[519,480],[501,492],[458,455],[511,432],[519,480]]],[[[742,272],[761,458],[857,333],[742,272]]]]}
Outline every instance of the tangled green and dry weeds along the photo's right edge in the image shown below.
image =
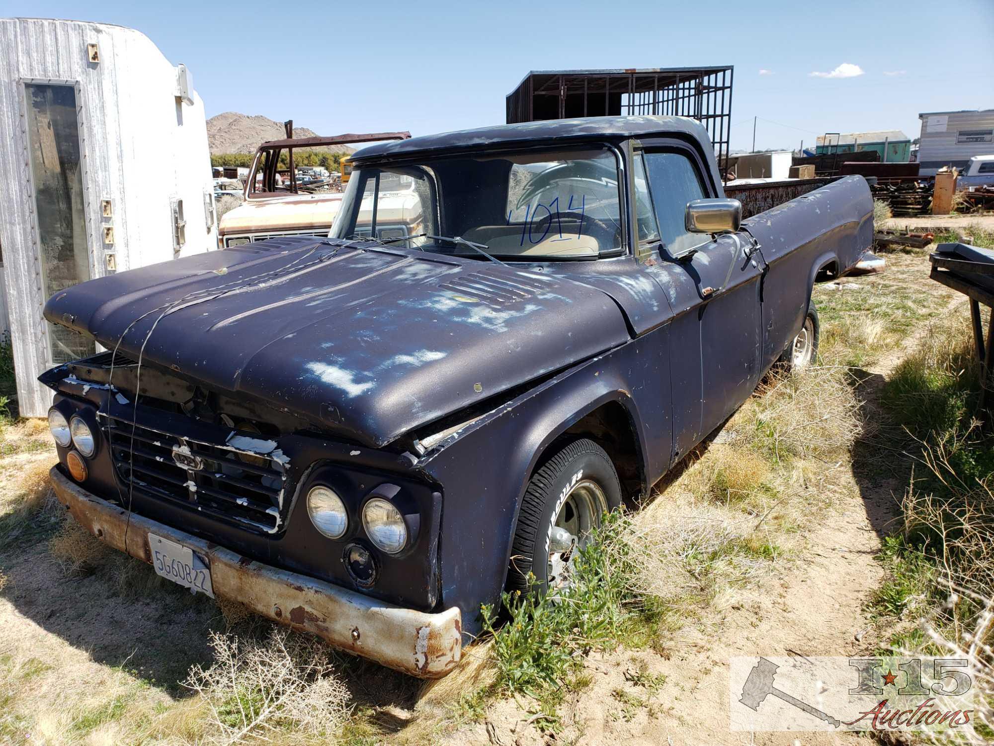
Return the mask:
{"type": "Polygon", "coordinates": [[[966,661],[977,710],[975,730],[959,742],[986,744],[994,738],[994,436],[974,419],[980,383],[963,311],[927,330],[885,391],[914,469],[875,603],[899,618],[897,651],[966,661]]]}

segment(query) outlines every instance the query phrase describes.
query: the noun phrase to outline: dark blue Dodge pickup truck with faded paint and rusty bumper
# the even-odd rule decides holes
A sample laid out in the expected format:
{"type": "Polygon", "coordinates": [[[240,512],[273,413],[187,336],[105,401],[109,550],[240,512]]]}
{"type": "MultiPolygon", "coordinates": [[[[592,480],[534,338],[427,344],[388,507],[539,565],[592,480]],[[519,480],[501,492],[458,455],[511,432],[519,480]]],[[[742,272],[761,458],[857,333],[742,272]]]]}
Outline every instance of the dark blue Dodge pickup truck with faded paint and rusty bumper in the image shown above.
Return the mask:
{"type": "Polygon", "coordinates": [[[91,280],[46,317],[59,499],[192,590],[417,676],[570,582],[873,240],[860,176],[746,220],[705,129],[629,116],[374,145],[327,239],[91,280]]]}

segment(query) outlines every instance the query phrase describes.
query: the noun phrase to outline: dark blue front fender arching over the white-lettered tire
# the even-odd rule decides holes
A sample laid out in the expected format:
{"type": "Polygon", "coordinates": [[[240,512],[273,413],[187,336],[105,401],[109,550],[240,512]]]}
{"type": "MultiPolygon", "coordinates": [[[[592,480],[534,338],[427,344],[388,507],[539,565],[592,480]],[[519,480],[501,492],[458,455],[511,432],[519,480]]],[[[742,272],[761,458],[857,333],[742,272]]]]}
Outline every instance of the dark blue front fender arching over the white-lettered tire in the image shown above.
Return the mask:
{"type": "Polygon", "coordinates": [[[653,482],[668,466],[668,334],[662,327],[557,375],[449,436],[421,459],[419,466],[444,493],[441,603],[462,610],[467,633],[480,629],[481,604],[499,602],[528,480],[572,425],[617,402],[634,427],[643,481],[653,482]]]}

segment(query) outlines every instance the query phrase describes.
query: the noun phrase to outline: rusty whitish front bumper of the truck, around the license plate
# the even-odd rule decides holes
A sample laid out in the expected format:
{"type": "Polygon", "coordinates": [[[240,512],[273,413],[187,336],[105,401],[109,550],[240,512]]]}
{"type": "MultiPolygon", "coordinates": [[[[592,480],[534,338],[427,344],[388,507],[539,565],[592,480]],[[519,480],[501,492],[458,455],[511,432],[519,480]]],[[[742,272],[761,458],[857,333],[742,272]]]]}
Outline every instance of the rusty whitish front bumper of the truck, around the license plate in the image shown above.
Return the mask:
{"type": "Polygon", "coordinates": [[[94,536],[149,564],[149,532],[184,544],[210,565],[216,595],[241,602],[256,614],[413,676],[438,678],[459,662],[462,634],[457,607],[425,614],[390,606],[263,565],[140,515],[132,513],[128,523],[125,510],[90,494],[58,467],[52,467],[51,476],[59,501],[94,536]]]}

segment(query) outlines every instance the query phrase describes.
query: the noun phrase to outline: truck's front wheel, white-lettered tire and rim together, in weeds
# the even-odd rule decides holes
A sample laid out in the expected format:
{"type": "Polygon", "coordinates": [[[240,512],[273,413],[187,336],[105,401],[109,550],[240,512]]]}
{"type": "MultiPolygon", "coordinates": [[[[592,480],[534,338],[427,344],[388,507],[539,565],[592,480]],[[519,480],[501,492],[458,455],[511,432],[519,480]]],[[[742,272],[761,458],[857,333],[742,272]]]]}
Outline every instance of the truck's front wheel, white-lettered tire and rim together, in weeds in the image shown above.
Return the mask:
{"type": "Polygon", "coordinates": [[[593,441],[562,448],[528,482],[511,551],[508,589],[561,591],[569,587],[577,551],[604,513],[621,504],[610,458],[593,441]],[[534,586],[529,573],[535,576],[534,586]]]}

